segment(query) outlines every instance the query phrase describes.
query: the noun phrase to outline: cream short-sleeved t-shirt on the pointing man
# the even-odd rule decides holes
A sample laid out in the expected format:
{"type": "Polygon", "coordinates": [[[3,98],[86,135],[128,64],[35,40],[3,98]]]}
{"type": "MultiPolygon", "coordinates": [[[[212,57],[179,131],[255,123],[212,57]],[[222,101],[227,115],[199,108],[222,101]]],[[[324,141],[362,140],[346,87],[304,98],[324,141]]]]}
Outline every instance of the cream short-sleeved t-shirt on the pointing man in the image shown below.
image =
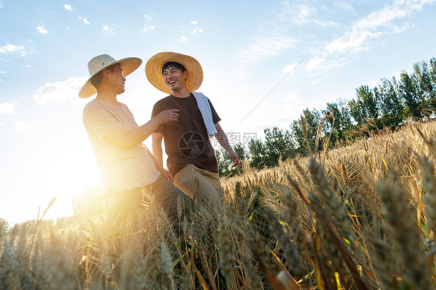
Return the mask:
{"type": "Polygon", "coordinates": [[[106,140],[107,134],[119,126],[127,130],[138,127],[129,108],[120,104],[113,106],[94,99],[83,108],[83,124],[101,169],[103,194],[110,187],[114,192],[142,187],[155,182],[160,174],[142,143],[124,149],[106,140]]]}

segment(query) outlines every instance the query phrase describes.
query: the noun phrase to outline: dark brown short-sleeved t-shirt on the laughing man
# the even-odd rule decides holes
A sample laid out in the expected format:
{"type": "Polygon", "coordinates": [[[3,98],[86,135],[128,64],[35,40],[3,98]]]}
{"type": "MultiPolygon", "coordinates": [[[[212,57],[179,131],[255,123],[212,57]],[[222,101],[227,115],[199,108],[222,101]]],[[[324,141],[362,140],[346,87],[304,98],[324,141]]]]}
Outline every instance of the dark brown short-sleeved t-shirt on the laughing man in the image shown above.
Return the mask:
{"type": "MultiPolygon", "coordinates": [[[[209,101],[212,111],[213,123],[221,121],[209,101]]],[[[178,109],[178,119],[161,125],[156,132],[164,134],[165,153],[168,171],[175,175],[187,164],[211,172],[218,172],[215,152],[210,144],[203,117],[198,109],[197,101],[193,94],[187,98],[176,98],[172,95],[156,102],[153,106],[152,117],[161,111],[178,109]]]]}

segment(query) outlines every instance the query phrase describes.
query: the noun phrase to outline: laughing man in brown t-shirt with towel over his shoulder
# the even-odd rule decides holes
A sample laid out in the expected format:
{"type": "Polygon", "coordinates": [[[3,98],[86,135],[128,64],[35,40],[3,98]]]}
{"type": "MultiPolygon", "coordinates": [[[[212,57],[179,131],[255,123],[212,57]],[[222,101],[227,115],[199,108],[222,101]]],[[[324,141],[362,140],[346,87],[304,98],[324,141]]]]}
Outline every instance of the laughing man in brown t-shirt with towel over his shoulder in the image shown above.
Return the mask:
{"type": "Polygon", "coordinates": [[[233,167],[238,165],[239,157],[230,146],[210,100],[195,92],[203,80],[200,63],[187,55],[163,52],[150,58],[146,74],[155,88],[171,94],[156,102],[152,117],[163,110],[179,110],[177,121],[159,126],[152,134],[154,156],[163,164],[163,139],[174,184],[193,197],[198,180],[200,198],[217,196],[221,183],[209,137],[215,135],[234,162],[233,167]]]}

